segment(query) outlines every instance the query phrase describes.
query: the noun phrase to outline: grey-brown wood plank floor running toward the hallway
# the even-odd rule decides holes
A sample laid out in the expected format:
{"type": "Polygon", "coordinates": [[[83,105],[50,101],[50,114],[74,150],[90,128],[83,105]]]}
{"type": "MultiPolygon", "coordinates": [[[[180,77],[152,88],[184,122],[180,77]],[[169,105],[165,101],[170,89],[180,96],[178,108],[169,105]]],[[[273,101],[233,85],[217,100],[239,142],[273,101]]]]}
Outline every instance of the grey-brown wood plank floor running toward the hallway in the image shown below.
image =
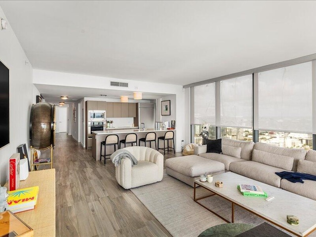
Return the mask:
{"type": "MultiPolygon", "coordinates": [[[[120,187],[114,164],[92,158],[66,133],[56,134],[57,237],[170,237],[130,190],[120,187]]],[[[169,152],[164,158],[181,156],[169,152]]]]}

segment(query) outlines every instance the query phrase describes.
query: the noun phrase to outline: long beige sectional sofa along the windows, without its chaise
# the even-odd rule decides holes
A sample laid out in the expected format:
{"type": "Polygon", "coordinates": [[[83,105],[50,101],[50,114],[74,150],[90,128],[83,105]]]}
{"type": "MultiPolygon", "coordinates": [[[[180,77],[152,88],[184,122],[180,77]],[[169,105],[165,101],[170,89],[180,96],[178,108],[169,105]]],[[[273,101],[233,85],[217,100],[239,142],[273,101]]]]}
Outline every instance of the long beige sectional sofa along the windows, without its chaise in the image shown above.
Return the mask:
{"type": "Polygon", "coordinates": [[[276,172],[282,171],[316,175],[316,151],[306,152],[304,149],[281,148],[260,142],[254,144],[222,138],[222,153],[206,153],[206,145],[195,148],[195,155],[220,161],[225,164],[227,171],[316,200],[316,181],[292,183],[276,175],[276,172]]]}

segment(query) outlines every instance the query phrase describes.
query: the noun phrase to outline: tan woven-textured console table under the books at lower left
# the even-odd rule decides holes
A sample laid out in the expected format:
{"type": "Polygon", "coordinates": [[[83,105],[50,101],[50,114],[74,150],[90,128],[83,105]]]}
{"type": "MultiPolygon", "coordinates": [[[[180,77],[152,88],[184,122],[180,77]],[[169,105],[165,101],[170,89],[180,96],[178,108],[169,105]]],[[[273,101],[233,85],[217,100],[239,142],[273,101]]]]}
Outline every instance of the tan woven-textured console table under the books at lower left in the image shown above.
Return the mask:
{"type": "MultiPolygon", "coordinates": [[[[7,184],[5,186],[7,187],[7,184]]],[[[19,189],[33,186],[39,186],[39,196],[35,208],[15,213],[15,215],[34,230],[35,237],[55,237],[55,169],[29,172],[29,177],[24,181],[20,181],[19,189]]]]}

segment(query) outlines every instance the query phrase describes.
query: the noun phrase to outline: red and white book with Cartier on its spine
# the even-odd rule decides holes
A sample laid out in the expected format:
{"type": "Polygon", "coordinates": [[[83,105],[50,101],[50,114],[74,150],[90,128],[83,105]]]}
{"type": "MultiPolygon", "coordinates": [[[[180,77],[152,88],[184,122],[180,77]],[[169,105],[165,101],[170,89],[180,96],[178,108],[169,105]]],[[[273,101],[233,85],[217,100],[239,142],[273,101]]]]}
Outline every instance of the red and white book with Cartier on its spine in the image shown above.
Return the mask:
{"type": "Polygon", "coordinates": [[[9,191],[17,190],[20,183],[20,154],[13,154],[9,158],[9,191]]]}

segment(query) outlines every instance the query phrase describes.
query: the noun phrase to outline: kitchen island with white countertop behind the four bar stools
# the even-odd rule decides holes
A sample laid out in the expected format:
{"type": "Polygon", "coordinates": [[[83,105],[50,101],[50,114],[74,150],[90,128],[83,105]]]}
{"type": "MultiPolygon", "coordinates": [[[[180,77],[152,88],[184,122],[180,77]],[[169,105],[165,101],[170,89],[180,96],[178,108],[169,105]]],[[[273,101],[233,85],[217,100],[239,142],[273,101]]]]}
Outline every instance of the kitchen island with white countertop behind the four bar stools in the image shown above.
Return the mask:
{"type": "MultiPolygon", "coordinates": [[[[175,141],[176,140],[176,132],[175,132],[176,130],[175,129],[172,129],[172,130],[168,130],[168,129],[155,130],[155,129],[149,128],[149,129],[124,129],[124,130],[93,131],[92,132],[92,157],[95,158],[96,160],[100,160],[101,142],[104,141],[106,136],[108,136],[110,134],[117,134],[118,135],[118,144],[119,144],[119,140],[125,139],[126,134],[136,133],[137,134],[137,146],[138,146],[138,141],[140,138],[146,137],[146,134],[148,132],[156,132],[156,142],[157,142],[157,146],[158,146],[158,137],[163,137],[167,131],[174,132],[174,141],[175,141]]],[[[143,144],[144,143],[142,142],[141,145],[143,145],[143,144]]],[[[147,143],[147,144],[149,146],[149,143],[147,143]]],[[[154,142],[152,142],[152,148],[154,148],[154,146],[155,146],[155,144],[154,144],[154,142]]],[[[176,144],[174,146],[176,146],[176,144]]],[[[124,146],[122,144],[122,148],[123,147],[124,146]]],[[[160,147],[163,147],[162,141],[160,141],[160,147]]],[[[112,154],[113,152],[114,152],[114,146],[107,146],[107,154],[112,154]]]]}

